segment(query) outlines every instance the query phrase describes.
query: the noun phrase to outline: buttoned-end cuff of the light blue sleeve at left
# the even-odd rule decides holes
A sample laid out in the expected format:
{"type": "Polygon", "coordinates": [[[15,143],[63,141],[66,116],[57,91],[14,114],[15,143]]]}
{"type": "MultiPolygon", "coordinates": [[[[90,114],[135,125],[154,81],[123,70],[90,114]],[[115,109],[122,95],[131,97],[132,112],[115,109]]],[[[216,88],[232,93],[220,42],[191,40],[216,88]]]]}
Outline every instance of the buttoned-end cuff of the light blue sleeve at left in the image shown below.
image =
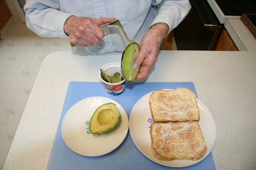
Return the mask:
{"type": "Polygon", "coordinates": [[[56,34],[58,37],[61,38],[67,38],[67,34],[64,32],[64,24],[68,17],[73,16],[73,14],[68,14],[64,12],[60,12],[56,17],[55,17],[55,22],[54,22],[54,27],[56,30],[56,34]]]}

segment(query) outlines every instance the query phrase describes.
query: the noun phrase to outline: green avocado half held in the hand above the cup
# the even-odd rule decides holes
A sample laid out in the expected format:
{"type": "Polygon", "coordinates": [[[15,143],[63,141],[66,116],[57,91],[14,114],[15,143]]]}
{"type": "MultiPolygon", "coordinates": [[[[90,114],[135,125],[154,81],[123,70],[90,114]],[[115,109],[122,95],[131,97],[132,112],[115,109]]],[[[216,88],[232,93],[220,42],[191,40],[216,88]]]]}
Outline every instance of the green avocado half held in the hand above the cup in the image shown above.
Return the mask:
{"type": "Polygon", "coordinates": [[[140,45],[134,42],[129,44],[125,48],[125,51],[122,53],[122,74],[125,77],[125,79],[129,82],[134,82],[134,80],[137,78],[137,75],[139,74],[140,67],[133,69],[134,59],[137,57],[139,52],[140,45]]]}

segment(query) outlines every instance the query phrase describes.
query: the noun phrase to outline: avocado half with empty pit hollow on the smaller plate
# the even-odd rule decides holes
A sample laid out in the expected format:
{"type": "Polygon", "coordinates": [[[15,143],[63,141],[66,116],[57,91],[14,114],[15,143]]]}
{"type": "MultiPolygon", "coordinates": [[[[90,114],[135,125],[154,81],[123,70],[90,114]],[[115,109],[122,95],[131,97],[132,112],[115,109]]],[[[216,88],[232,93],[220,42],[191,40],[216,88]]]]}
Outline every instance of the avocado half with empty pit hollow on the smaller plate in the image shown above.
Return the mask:
{"type": "Polygon", "coordinates": [[[94,135],[107,133],[118,125],[120,112],[114,103],[99,106],[90,119],[89,130],[94,135]]]}

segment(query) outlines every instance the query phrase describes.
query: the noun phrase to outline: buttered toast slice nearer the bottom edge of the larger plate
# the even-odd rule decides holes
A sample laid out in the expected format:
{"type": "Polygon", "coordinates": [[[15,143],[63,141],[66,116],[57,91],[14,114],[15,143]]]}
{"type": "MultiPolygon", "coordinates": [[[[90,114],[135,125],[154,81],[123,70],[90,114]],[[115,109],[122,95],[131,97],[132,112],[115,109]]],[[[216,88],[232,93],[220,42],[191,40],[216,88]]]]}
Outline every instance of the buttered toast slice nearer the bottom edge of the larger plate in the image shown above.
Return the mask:
{"type": "Polygon", "coordinates": [[[198,121],[151,124],[152,153],[160,160],[198,160],[207,145],[198,121]]]}

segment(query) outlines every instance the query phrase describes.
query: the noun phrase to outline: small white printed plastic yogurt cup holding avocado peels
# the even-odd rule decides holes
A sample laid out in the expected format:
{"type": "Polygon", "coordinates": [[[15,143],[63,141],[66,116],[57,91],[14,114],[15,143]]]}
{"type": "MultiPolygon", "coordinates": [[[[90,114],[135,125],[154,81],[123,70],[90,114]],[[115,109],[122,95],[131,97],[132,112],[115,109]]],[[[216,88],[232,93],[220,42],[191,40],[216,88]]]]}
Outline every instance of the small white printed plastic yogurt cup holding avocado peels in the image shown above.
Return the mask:
{"type": "Polygon", "coordinates": [[[115,74],[116,72],[119,72],[123,78],[123,80],[121,82],[109,83],[102,79],[100,71],[99,71],[99,78],[104,83],[107,94],[110,96],[113,96],[113,97],[120,96],[121,94],[123,94],[123,92],[125,90],[126,80],[122,75],[121,64],[118,62],[111,62],[111,63],[104,65],[101,69],[107,71],[111,76],[113,76],[113,74],[115,74]]]}

